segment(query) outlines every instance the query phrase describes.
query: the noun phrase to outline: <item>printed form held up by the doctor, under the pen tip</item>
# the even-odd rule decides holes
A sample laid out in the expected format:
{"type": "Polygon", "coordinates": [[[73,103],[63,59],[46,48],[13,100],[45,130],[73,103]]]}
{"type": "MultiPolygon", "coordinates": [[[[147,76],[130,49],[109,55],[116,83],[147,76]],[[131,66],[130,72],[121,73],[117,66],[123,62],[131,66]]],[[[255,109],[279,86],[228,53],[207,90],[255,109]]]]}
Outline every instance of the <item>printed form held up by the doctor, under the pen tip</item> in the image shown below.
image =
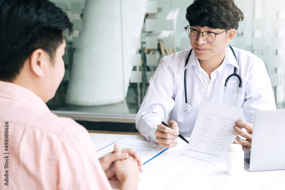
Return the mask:
{"type": "Polygon", "coordinates": [[[233,126],[243,121],[243,109],[219,103],[201,101],[197,120],[189,138],[194,147],[186,144],[171,160],[194,162],[202,169],[209,169],[221,160],[237,137],[233,126]]]}

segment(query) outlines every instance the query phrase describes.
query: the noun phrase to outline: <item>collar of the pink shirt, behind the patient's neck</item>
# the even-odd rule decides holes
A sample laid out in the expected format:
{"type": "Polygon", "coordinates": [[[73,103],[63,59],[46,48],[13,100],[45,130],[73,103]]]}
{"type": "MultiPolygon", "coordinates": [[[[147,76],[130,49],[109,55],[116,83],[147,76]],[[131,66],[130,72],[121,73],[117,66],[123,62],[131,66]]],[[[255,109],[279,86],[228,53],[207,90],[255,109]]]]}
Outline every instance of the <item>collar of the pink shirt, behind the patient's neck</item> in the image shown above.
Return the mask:
{"type": "Polygon", "coordinates": [[[44,101],[29,89],[11,82],[0,81],[0,97],[11,99],[9,105],[12,107],[18,101],[25,102],[27,107],[37,107],[46,111],[50,111],[44,101]]]}

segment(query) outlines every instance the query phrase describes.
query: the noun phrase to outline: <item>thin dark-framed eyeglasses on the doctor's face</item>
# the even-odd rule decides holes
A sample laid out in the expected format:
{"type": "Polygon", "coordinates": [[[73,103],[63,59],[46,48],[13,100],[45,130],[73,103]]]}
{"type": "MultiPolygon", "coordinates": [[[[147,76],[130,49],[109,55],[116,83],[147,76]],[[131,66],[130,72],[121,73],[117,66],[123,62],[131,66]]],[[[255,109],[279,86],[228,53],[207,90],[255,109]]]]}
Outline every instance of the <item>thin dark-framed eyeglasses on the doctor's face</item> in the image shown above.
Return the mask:
{"type": "MultiPolygon", "coordinates": [[[[190,26],[190,25],[189,25],[190,26]]],[[[200,32],[197,30],[197,29],[194,29],[194,28],[187,28],[188,26],[186,26],[184,29],[186,30],[186,34],[187,36],[190,38],[190,39],[196,39],[198,38],[198,36],[200,35],[200,32]]],[[[227,29],[229,30],[229,29],[227,29]]],[[[225,30],[225,31],[227,31],[225,30]]],[[[223,32],[225,32],[223,31],[223,32]]],[[[204,31],[204,32],[201,32],[202,33],[202,36],[204,38],[205,41],[207,42],[213,42],[215,41],[216,39],[216,36],[218,34],[221,34],[223,32],[220,32],[220,33],[215,33],[215,32],[211,32],[211,31],[204,31]]]]}

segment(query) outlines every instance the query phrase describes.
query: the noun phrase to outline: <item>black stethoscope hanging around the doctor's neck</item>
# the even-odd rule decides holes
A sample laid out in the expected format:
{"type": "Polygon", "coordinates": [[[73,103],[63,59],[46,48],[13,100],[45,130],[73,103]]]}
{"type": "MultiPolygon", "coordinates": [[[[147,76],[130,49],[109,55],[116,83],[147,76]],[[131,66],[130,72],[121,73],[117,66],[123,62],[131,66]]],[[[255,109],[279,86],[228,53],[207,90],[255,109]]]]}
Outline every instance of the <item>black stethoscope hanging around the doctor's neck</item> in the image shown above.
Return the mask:
{"type": "MultiPolygon", "coordinates": [[[[230,45],[229,45],[230,46],[230,45]]],[[[235,60],[237,61],[237,56],[235,55],[235,51],[233,50],[233,48],[230,46],[232,52],[233,52],[233,55],[235,56],[235,60]]],[[[188,60],[189,60],[189,57],[190,57],[190,54],[192,52],[193,49],[190,50],[189,54],[188,54],[188,57],[186,59],[186,63],[185,63],[185,67],[186,65],[188,64],[188,60]]],[[[189,104],[187,102],[187,89],[186,89],[186,70],[184,71],[184,91],[185,91],[185,105],[183,107],[184,109],[184,112],[185,113],[190,113],[191,109],[192,109],[192,106],[191,104],[189,104]]],[[[234,71],[233,71],[233,74],[229,75],[225,81],[225,90],[224,90],[224,97],[223,97],[223,104],[225,104],[225,95],[226,95],[226,88],[227,88],[227,83],[228,83],[228,80],[232,77],[232,76],[236,76],[238,79],[239,79],[239,93],[241,91],[241,77],[237,74],[237,68],[235,67],[234,71]]],[[[237,103],[239,101],[239,93],[237,95],[237,103]]],[[[237,104],[236,104],[236,107],[237,107],[237,104]]]]}

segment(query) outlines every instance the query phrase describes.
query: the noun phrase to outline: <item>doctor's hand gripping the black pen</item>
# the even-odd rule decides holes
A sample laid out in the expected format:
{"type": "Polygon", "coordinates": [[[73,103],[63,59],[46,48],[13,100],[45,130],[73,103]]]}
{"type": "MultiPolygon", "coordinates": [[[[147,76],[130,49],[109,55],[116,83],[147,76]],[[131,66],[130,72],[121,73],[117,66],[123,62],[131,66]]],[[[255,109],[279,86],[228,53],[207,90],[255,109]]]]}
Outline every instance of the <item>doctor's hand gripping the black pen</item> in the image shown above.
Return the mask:
{"type": "Polygon", "coordinates": [[[163,124],[160,124],[157,126],[155,135],[156,135],[156,141],[158,142],[158,145],[164,148],[172,148],[178,144],[178,142],[174,142],[174,140],[179,135],[179,128],[178,124],[175,121],[168,122],[168,125],[172,127],[169,128],[167,126],[164,126],[163,124]]]}

